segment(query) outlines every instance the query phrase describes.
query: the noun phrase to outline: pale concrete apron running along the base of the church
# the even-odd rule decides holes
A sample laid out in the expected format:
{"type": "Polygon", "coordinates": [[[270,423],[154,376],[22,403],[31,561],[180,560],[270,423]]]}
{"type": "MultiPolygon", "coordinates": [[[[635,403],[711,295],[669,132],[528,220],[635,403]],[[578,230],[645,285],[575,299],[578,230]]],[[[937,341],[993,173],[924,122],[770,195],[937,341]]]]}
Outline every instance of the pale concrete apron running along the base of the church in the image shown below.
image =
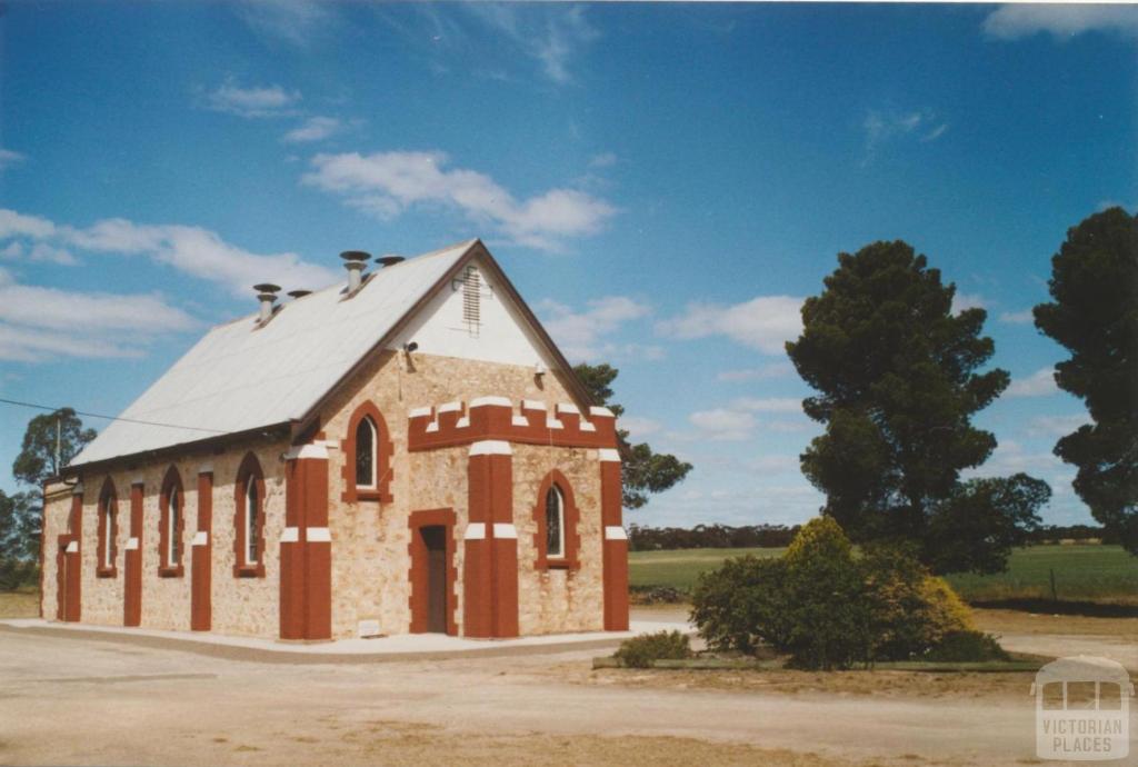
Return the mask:
{"type": "MultiPolygon", "coordinates": [[[[323,657],[329,660],[337,655],[346,659],[361,658],[368,655],[387,657],[391,660],[399,655],[415,655],[423,652],[439,653],[485,653],[487,650],[509,652],[511,648],[542,648],[549,646],[551,652],[571,651],[572,645],[584,643],[595,643],[611,641],[613,645],[622,640],[627,640],[638,634],[651,634],[660,630],[678,630],[691,633],[692,626],[682,621],[658,621],[658,620],[634,620],[629,622],[627,632],[580,632],[575,634],[542,634],[538,636],[522,636],[513,640],[472,640],[461,636],[447,636],[446,634],[396,634],[382,638],[352,638],[336,640],[333,642],[319,642],[314,644],[279,642],[277,640],[264,640],[251,636],[225,636],[207,632],[166,632],[155,628],[127,628],[124,626],[97,626],[93,624],[68,624],[43,618],[10,618],[0,619],[0,624],[11,628],[46,628],[58,632],[97,632],[107,635],[119,635],[124,642],[130,642],[132,636],[148,636],[154,638],[173,640],[187,644],[197,644],[204,648],[231,646],[258,650],[266,653],[281,653],[283,655],[311,655],[323,657]]],[[[304,661],[299,661],[304,662],[304,661]]]]}

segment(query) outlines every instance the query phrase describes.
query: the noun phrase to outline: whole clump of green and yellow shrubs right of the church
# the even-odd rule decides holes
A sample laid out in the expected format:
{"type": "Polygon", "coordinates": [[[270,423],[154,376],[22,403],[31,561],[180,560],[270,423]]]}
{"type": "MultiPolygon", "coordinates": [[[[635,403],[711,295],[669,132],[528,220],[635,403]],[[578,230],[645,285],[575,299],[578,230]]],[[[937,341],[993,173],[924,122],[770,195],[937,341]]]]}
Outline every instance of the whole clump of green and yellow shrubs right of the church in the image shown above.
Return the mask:
{"type": "Polygon", "coordinates": [[[921,658],[974,627],[967,608],[902,546],[855,559],[838,522],[806,525],[781,559],[743,556],[706,572],[692,621],[712,650],[767,644],[803,668],[921,658]]]}

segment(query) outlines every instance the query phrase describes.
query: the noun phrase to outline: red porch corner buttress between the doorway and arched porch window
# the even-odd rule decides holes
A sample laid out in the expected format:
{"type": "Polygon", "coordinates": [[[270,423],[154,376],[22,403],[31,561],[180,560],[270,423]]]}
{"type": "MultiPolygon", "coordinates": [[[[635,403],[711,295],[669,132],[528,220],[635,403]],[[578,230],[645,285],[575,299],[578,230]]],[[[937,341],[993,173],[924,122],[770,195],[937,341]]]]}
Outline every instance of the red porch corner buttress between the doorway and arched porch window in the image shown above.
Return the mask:
{"type": "Polygon", "coordinates": [[[518,533],[513,456],[504,442],[478,442],[468,462],[470,525],[463,536],[463,634],[518,636],[518,533]]]}

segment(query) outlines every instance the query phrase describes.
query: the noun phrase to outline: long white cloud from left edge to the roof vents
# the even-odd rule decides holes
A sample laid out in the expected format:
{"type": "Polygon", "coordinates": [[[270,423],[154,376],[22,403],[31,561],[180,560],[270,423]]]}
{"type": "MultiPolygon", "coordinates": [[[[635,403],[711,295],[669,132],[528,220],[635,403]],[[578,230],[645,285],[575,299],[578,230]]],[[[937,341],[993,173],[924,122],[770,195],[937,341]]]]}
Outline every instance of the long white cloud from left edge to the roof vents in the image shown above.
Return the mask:
{"type": "Polygon", "coordinates": [[[332,270],[310,264],[295,253],[250,253],[200,226],[137,224],[126,218],[106,218],[76,229],[0,208],[0,241],[17,236],[35,240],[31,250],[33,258],[39,255],[42,259],[61,263],[60,259],[71,257],[64,246],[91,253],[142,255],[221,284],[239,297],[249,296],[250,286],[257,282],[313,289],[331,284],[339,278],[332,270]]]}

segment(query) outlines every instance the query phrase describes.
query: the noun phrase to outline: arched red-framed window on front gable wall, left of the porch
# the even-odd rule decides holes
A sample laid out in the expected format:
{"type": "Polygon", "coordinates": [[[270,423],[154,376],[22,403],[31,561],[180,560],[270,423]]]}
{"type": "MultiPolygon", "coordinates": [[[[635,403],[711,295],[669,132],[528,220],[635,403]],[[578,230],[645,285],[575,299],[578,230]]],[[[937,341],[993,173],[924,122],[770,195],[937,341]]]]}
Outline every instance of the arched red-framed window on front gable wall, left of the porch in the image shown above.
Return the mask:
{"type": "Polygon", "coordinates": [[[347,434],[340,442],[344,453],[340,470],[344,492],[340,500],[347,503],[391,503],[394,450],[384,414],[371,401],[360,403],[348,419],[347,434]]]}

